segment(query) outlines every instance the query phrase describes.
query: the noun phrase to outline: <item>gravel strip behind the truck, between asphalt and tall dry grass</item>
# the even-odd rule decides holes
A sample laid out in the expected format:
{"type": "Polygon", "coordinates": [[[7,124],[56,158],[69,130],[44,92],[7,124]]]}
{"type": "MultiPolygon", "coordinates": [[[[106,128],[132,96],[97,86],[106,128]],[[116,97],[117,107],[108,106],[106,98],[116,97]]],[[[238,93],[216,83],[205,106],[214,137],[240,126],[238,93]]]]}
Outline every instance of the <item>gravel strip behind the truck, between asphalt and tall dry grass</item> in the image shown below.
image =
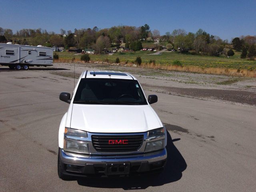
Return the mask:
{"type": "Polygon", "coordinates": [[[256,107],[255,78],[172,72],[106,64],[54,63],[52,67],[32,67],[30,70],[68,77],[74,77],[75,74],[76,78],[83,70],[125,71],[136,76],[144,90],[256,107]]]}

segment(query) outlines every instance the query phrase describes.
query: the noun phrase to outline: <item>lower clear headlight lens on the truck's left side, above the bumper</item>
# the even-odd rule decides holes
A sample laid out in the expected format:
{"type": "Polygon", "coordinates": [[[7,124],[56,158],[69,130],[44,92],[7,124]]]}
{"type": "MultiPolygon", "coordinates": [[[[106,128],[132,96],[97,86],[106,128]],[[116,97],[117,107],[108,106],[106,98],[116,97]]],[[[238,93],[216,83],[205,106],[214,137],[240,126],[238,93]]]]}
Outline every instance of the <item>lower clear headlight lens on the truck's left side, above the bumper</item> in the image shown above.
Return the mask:
{"type": "Polygon", "coordinates": [[[64,139],[65,151],[89,154],[88,143],[67,141],[64,139]]]}

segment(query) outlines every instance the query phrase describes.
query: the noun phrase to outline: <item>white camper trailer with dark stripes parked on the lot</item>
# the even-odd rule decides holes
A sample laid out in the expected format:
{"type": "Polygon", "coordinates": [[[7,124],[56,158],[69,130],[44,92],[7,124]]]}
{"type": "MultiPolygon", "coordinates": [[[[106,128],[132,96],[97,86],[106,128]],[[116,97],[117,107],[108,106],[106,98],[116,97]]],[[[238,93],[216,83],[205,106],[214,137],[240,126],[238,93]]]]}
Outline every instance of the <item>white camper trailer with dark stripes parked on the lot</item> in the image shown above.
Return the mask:
{"type": "Polygon", "coordinates": [[[0,43],[0,64],[11,69],[28,70],[30,66],[52,66],[52,48],[0,43]]]}

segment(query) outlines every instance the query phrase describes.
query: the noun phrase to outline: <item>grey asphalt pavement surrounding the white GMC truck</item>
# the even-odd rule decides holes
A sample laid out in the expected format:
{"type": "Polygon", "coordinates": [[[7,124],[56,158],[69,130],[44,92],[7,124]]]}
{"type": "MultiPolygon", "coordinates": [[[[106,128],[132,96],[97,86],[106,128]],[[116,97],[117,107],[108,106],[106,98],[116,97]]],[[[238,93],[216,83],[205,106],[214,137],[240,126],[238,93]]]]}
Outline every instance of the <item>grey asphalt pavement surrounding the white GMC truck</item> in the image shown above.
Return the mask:
{"type": "Polygon", "coordinates": [[[57,174],[58,128],[74,79],[0,69],[0,191],[256,191],[256,108],[158,95],[168,130],[159,176],[73,178],[57,174]]]}

